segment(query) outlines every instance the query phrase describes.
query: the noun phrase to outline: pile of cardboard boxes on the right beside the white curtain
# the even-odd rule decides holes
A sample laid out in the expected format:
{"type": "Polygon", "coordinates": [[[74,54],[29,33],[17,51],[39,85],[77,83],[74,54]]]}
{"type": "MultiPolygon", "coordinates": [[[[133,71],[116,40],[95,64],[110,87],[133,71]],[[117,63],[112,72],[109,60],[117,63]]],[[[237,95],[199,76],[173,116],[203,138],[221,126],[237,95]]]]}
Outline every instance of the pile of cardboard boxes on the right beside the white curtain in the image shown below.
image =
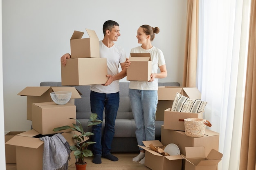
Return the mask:
{"type": "Polygon", "coordinates": [[[200,99],[201,93],[197,88],[167,87],[158,88],[158,106],[156,115],[164,120],[161,128],[160,141],[144,141],[146,150],[145,166],[152,170],[217,170],[222,154],[218,152],[219,134],[206,129],[202,137],[185,135],[184,121],[179,119],[202,118],[203,113],[173,112],[171,107],[176,93],[191,99],[200,99]],[[149,144],[156,147],[176,144],[181,155],[163,156],[150,149],[149,144]]]}

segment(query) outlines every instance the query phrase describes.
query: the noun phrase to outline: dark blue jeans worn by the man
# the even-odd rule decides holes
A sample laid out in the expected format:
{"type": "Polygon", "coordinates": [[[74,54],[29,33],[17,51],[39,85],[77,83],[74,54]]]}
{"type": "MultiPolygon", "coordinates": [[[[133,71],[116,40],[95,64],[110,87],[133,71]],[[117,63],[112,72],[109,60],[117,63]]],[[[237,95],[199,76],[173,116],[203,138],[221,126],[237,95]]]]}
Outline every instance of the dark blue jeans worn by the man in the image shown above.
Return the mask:
{"type": "Polygon", "coordinates": [[[119,107],[119,92],[106,94],[91,91],[90,94],[91,111],[98,114],[98,119],[103,120],[103,111],[105,110],[105,127],[101,134],[102,124],[92,126],[91,141],[92,152],[94,155],[110,154],[112,140],[115,134],[115,120],[119,107]]]}

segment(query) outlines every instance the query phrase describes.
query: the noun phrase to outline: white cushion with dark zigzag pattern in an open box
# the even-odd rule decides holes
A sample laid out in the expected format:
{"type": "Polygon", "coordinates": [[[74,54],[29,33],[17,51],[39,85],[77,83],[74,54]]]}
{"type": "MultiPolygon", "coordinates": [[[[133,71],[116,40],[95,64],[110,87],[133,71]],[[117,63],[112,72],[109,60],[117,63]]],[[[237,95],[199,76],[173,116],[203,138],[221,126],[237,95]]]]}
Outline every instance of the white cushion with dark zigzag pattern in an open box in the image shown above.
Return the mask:
{"type": "Polygon", "coordinates": [[[173,106],[171,111],[173,112],[186,112],[186,113],[200,113],[204,112],[204,108],[207,102],[195,99],[189,99],[176,93],[175,99],[173,101],[173,106]]]}

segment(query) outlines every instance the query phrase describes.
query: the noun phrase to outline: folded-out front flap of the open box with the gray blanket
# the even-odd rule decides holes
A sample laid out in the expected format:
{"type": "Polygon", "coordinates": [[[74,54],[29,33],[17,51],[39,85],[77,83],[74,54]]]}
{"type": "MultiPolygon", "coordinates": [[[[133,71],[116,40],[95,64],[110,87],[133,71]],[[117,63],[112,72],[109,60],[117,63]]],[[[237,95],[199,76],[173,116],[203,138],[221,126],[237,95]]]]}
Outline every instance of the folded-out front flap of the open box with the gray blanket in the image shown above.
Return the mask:
{"type": "Polygon", "coordinates": [[[39,146],[41,146],[43,143],[44,142],[38,138],[16,135],[13,138],[11,138],[9,141],[7,141],[5,144],[36,149],[39,146]]]}

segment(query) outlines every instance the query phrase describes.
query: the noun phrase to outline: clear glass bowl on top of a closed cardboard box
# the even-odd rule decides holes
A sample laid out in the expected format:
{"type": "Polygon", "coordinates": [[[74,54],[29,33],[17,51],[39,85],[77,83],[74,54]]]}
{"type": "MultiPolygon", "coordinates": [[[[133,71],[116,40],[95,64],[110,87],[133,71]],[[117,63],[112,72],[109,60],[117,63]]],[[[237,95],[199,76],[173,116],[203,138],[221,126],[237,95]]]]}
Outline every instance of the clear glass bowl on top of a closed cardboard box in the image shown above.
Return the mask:
{"type": "Polygon", "coordinates": [[[50,93],[54,103],[59,105],[64,105],[68,101],[70,101],[71,94],[72,92],[69,92],[69,91],[57,91],[57,92],[50,93]]]}

